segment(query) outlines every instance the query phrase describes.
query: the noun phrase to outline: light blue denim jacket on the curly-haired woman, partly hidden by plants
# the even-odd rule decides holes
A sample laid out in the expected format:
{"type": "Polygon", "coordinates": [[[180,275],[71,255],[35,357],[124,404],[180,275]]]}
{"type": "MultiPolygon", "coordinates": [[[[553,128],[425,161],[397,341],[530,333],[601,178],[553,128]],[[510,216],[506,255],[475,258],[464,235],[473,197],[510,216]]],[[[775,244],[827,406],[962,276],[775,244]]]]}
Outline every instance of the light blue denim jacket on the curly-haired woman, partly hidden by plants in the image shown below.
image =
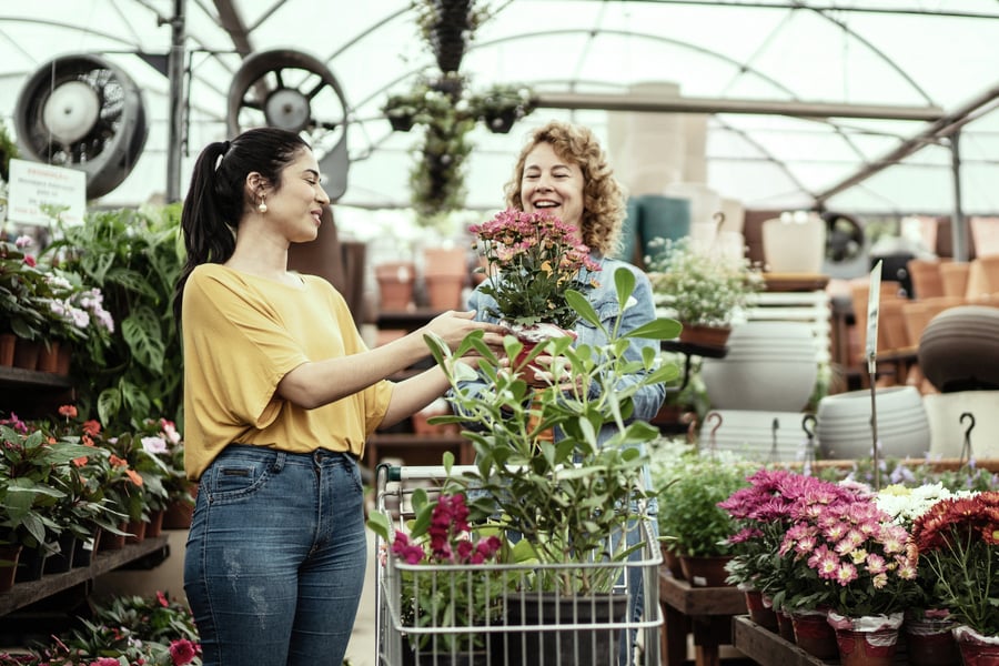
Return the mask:
{"type": "MultiPolygon", "coordinates": [[[[635,275],[635,291],[632,292],[629,306],[625,309],[620,323],[620,332],[626,333],[656,319],[652,284],[648,281],[648,276],[640,269],[616,259],[595,258],[595,260],[601,264],[601,271],[591,272],[584,269],[579,278],[583,282],[589,282],[591,279],[594,279],[597,282],[597,286],[594,286],[588,291],[587,300],[593,305],[594,310],[596,310],[601,317],[601,322],[607,330],[613,329],[614,322],[619,314],[617,292],[614,286],[614,273],[619,268],[625,268],[635,275]]],[[[468,309],[476,311],[476,320],[495,323],[498,320],[488,313],[491,307],[496,307],[496,301],[492,296],[482,293],[480,285],[480,289],[473,291],[468,299],[468,309]]],[[[575,332],[577,334],[575,344],[588,344],[592,346],[607,344],[607,336],[603,331],[596,329],[589,322],[579,320],[576,324],[575,332]]],[[[658,353],[659,342],[657,340],[633,339],[625,355],[629,360],[640,360],[642,350],[645,347],[650,347],[658,353]]],[[[623,381],[637,383],[640,377],[638,376],[632,376],[626,377],[623,381]]],[[[476,382],[464,382],[462,386],[463,389],[472,390],[474,393],[476,392],[475,384],[476,382]]],[[[481,382],[480,384],[484,386],[481,382]]],[[[594,385],[594,390],[598,390],[598,386],[594,385]]],[[[665,398],[665,384],[660,383],[642,387],[635,393],[633,398],[635,408],[632,414],[632,420],[652,420],[659,411],[665,398]]],[[[616,432],[615,428],[616,426],[613,424],[604,426],[597,438],[598,444],[603,444],[610,438],[616,432]]],[[[558,433],[556,432],[556,437],[557,436],[558,433]]],[[[648,475],[645,474],[644,476],[646,488],[650,488],[648,475]]],[[[649,508],[649,513],[655,513],[655,503],[653,503],[649,508]]]]}

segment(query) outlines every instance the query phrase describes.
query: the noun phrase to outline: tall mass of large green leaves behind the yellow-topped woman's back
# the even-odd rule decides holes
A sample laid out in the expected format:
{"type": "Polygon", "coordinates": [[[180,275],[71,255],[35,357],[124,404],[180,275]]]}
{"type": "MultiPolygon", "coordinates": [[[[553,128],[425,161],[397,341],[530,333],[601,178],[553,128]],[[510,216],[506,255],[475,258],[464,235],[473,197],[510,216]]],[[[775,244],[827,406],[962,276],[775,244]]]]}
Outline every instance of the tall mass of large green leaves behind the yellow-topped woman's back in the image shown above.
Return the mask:
{"type": "Polygon", "coordinates": [[[95,411],[110,430],[150,415],[180,422],[181,342],[171,309],[183,263],[180,205],[92,211],[82,225],[59,229],[46,253],[100,287],[119,323],[102,355],[74,361],[81,411],[95,411]]]}

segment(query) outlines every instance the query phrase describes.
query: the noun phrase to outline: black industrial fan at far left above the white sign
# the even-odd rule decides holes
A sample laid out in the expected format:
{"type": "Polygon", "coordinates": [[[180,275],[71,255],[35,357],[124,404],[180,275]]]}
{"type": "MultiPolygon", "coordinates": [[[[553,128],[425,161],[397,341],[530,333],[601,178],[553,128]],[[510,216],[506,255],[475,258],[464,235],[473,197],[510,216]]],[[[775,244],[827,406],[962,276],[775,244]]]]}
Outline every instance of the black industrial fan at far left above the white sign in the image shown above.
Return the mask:
{"type": "Polygon", "coordinates": [[[121,69],[97,56],[64,56],[29,79],[14,112],[22,154],[87,173],[87,198],[120,185],[149,125],[142,95],[121,69]]]}

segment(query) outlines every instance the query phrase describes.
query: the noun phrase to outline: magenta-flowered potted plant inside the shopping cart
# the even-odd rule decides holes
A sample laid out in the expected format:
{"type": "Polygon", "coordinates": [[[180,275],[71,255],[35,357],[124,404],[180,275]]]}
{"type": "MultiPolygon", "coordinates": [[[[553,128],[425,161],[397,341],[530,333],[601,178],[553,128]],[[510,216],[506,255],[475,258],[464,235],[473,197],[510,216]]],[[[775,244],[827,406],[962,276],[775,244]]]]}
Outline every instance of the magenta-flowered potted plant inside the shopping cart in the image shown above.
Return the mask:
{"type": "Polygon", "coordinates": [[[506,577],[484,565],[500,563],[508,545],[495,527],[472,528],[461,492],[445,491],[431,501],[424,488],[416,488],[412,505],[406,531],[393,531],[382,513],[371,514],[367,524],[398,561],[401,617],[415,629],[410,646],[416,663],[422,653],[484,652],[486,635],[475,627],[501,624],[503,593],[509,587],[506,577]]]}

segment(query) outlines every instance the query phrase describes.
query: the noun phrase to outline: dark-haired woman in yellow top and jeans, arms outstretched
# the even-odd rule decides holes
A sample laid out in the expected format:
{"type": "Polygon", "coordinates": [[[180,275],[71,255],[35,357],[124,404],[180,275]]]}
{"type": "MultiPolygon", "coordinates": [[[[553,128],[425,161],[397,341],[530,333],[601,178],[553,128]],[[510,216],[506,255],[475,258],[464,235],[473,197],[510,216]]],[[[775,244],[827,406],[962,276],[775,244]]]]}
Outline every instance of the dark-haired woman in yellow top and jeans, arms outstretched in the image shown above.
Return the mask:
{"type": "Polygon", "coordinates": [[[447,389],[436,367],[387,377],[428,355],[426,333],[502,347],[501,326],[447,312],[369,350],[329,282],[287,270],[329,203],[310,147],[272,128],[209,144],[184,201],[184,589],[205,666],[341,665],[367,561],[365,438],[447,389]]]}

